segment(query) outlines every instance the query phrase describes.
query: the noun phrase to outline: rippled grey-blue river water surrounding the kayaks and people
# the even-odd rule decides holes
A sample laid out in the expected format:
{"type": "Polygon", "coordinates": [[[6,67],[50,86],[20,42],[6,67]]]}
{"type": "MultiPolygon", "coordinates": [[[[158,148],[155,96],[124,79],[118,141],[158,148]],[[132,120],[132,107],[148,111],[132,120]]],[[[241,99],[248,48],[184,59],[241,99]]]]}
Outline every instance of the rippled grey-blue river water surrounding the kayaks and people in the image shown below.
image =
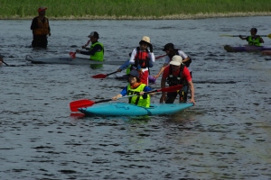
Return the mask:
{"type": "MultiPolygon", "coordinates": [[[[0,21],[1,179],[270,179],[271,59],[227,53],[245,40],[220,34],[270,33],[271,17],[168,21],[51,21],[48,49],[29,48],[31,21],[0,21]],[[70,116],[69,103],[100,100],[125,81],[101,68],[25,61],[67,56],[98,31],[108,60],[125,60],[142,36],[154,55],[173,42],[192,57],[196,106],[143,119],[70,116]]],[[[264,38],[266,46],[271,41],[264,38]]],[[[157,59],[151,74],[164,59],[157,59]]],[[[161,77],[153,88],[160,88],[161,77]]],[[[153,97],[158,103],[160,95],[153,97]]],[[[121,101],[125,102],[126,99],[121,101]]]]}

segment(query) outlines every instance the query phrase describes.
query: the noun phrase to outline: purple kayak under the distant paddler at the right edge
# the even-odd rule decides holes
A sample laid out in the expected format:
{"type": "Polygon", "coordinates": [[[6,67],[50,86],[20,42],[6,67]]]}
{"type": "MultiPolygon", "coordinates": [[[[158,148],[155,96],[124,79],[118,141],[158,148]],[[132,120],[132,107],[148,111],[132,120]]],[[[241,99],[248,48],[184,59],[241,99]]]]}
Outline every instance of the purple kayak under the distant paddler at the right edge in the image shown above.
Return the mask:
{"type": "Polygon", "coordinates": [[[227,52],[254,52],[254,51],[263,51],[263,50],[271,50],[271,47],[267,46],[224,46],[224,49],[227,52]]]}

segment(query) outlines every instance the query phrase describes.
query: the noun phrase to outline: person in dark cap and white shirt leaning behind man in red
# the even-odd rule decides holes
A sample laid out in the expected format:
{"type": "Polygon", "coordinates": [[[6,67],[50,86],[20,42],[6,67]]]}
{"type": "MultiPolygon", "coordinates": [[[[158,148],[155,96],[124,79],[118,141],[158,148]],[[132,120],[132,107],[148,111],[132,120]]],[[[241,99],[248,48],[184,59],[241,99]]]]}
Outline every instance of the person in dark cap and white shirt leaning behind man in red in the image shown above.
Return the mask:
{"type": "MultiPolygon", "coordinates": [[[[164,68],[169,65],[170,61],[172,60],[173,56],[175,56],[175,55],[181,56],[182,57],[182,63],[186,67],[190,67],[190,64],[192,63],[192,58],[190,58],[189,56],[187,56],[182,50],[175,49],[173,43],[167,43],[167,44],[165,44],[163,51],[165,51],[165,53],[167,54],[167,57],[164,60],[163,67],[161,67],[161,69],[158,72],[158,74],[154,76],[155,78],[158,78],[158,76],[160,76],[163,73],[164,68]]],[[[191,67],[189,68],[189,71],[190,71],[190,74],[192,76],[192,68],[191,67]]]]}

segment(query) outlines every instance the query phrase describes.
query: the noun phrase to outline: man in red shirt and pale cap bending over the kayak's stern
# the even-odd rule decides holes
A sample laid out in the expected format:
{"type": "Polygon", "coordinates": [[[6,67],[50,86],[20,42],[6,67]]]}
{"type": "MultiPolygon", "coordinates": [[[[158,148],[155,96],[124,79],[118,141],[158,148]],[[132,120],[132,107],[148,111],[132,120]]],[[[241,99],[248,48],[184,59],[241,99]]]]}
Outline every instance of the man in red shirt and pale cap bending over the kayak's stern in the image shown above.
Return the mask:
{"type": "Polygon", "coordinates": [[[182,90],[179,90],[178,92],[175,91],[167,93],[167,97],[165,96],[165,92],[163,92],[160,98],[160,103],[174,103],[177,94],[180,94],[179,102],[186,103],[189,86],[191,93],[190,102],[195,105],[192,76],[190,75],[188,68],[182,64],[181,56],[173,56],[170,65],[164,68],[164,73],[161,79],[161,88],[165,87],[165,82],[167,82],[169,86],[182,85],[182,90]]]}

